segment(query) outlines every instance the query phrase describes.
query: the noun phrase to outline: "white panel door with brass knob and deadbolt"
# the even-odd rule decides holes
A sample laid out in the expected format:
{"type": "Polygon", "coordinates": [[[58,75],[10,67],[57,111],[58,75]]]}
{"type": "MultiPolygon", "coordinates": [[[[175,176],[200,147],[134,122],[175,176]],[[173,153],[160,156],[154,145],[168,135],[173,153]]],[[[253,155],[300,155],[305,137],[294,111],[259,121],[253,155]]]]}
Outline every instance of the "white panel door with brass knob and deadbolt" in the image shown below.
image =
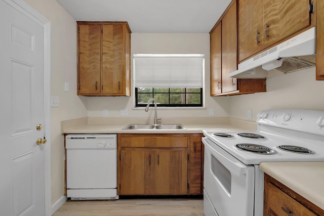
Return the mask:
{"type": "Polygon", "coordinates": [[[0,215],[45,215],[44,28],[0,0],[0,215]]]}

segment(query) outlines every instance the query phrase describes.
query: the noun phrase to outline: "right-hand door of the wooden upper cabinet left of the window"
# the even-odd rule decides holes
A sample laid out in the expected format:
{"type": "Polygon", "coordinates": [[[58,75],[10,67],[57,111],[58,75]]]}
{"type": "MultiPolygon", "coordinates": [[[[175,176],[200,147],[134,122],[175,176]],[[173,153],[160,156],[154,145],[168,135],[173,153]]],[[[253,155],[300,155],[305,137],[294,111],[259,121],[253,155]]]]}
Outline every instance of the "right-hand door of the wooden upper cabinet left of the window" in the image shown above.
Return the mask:
{"type": "Polygon", "coordinates": [[[124,25],[102,25],[102,94],[123,94],[124,25]]]}

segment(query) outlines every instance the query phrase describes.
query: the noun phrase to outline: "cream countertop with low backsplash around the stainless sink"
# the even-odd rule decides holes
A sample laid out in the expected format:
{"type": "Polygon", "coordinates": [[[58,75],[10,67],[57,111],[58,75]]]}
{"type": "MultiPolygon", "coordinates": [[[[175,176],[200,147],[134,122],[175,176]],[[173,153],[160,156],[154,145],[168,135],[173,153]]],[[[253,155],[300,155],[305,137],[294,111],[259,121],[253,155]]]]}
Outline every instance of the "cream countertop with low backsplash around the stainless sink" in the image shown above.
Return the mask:
{"type": "MultiPolygon", "coordinates": [[[[151,120],[148,121],[152,123],[151,120]]],[[[62,134],[104,134],[104,133],[131,133],[131,134],[195,134],[226,131],[256,131],[255,122],[215,118],[164,118],[162,123],[179,123],[186,129],[123,129],[131,123],[148,123],[147,119],[140,118],[80,118],[62,121],[62,134]]]]}

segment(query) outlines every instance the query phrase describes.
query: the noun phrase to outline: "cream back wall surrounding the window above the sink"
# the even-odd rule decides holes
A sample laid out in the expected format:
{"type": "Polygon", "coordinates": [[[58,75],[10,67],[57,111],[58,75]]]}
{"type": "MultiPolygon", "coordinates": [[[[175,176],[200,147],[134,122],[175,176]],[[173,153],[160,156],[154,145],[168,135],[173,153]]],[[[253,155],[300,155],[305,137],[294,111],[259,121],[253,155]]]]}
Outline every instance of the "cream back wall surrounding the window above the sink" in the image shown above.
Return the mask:
{"type": "MultiPolygon", "coordinates": [[[[228,115],[228,99],[210,97],[209,33],[132,33],[131,50],[132,54],[205,54],[206,108],[158,108],[158,117],[207,117],[211,108],[215,109],[215,116],[228,115]]],[[[104,108],[108,109],[107,117],[120,117],[120,108],[127,108],[128,117],[153,117],[153,111],[147,113],[143,108],[134,109],[134,91],[132,97],[88,98],[89,117],[104,117],[102,114],[104,108]]]]}

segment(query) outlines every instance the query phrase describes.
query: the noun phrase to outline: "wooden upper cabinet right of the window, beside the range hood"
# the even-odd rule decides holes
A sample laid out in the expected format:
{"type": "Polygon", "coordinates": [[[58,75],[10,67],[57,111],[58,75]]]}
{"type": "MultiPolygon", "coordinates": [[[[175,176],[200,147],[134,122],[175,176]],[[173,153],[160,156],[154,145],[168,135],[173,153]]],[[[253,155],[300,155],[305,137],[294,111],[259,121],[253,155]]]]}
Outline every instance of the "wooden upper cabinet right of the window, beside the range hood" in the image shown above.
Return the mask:
{"type": "Polygon", "coordinates": [[[237,69],[237,5],[232,1],[210,32],[211,96],[266,92],[265,79],[236,79],[229,73],[237,69]]]}

